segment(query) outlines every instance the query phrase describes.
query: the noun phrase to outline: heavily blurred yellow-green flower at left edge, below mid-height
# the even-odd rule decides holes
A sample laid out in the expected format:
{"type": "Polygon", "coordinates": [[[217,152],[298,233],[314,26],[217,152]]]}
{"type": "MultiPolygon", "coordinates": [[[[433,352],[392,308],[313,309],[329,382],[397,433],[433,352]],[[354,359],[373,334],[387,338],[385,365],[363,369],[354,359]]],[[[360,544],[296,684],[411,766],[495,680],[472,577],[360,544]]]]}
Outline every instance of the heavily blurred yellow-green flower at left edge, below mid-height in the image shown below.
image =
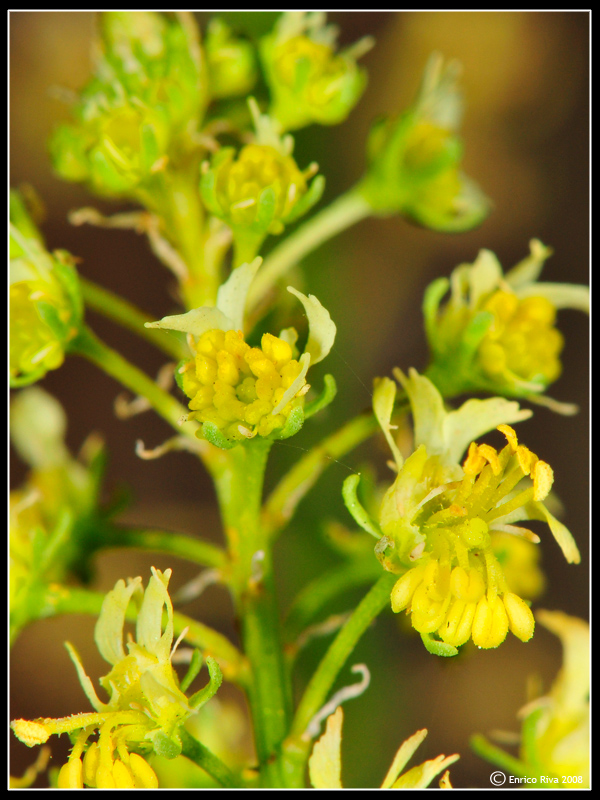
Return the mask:
{"type": "Polygon", "coordinates": [[[64,442],[66,416],[39,387],[20,392],[11,404],[15,450],[31,467],[10,494],[11,637],[40,614],[36,591],[67,575],[89,576],[94,531],[105,524],[100,508],[102,442],[89,437],[80,459],[64,442]]]}

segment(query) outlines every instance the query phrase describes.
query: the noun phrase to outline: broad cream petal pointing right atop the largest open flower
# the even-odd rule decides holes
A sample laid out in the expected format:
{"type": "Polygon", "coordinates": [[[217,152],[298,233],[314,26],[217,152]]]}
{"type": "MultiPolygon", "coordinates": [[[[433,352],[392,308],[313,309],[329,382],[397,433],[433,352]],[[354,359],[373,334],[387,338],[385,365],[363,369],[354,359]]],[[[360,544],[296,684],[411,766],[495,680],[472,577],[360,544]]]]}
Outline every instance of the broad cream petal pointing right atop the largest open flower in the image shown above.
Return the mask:
{"type": "Polygon", "coordinates": [[[498,425],[512,424],[529,419],[532,412],[519,408],[514,400],[490,397],[487,400],[467,400],[456,411],[446,415],[443,423],[443,438],[449,463],[460,461],[471,442],[498,425]]]}

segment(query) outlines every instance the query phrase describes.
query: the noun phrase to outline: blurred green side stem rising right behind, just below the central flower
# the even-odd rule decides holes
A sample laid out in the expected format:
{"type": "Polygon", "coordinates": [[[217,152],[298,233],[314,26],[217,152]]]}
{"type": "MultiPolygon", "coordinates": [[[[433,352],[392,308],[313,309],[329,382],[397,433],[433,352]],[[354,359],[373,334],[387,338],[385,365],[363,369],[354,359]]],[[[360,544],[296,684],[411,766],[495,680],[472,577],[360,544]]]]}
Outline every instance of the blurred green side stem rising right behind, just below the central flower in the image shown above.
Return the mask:
{"type": "Polygon", "coordinates": [[[371,411],[367,411],[351,419],[297,461],[279,481],[265,503],[263,511],[265,530],[274,535],[287,525],[302,498],[325,469],[377,430],[379,430],[377,420],[371,411]]]}

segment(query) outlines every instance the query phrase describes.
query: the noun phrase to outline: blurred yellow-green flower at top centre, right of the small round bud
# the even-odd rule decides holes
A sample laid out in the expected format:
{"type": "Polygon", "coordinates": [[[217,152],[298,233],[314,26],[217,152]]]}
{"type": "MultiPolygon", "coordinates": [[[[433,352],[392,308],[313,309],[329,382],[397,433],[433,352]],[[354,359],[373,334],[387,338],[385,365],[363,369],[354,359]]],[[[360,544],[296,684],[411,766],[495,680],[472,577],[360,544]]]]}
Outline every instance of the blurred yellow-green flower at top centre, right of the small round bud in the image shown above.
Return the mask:
{"type": "Polygon", "coordinates": [[[365,70],[356,60],[372,46],[369,37],[335,53],[337,30],[325,25],[321,12],[284,13],[275,30],[260,45],[265,77],[271,91],[271,115],[284,130],[314,122],[343,122],[362,95],[365,70]]]}

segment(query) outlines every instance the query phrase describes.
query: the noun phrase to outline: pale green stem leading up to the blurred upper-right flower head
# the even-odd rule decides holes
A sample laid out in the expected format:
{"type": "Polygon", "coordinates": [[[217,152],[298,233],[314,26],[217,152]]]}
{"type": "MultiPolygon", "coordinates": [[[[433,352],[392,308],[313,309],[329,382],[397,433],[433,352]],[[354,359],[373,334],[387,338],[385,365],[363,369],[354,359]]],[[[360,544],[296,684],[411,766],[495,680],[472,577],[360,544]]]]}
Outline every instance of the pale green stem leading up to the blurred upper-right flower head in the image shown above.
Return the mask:
{"type": "Polygon", "coordinates": [[[357,188],[353,187],[301,225],[265,259],[250,287],[248,312],[251,312],[279,278],[304,256],[359,220],[370,216],[371,213],[371,206],[357,188]]]}

